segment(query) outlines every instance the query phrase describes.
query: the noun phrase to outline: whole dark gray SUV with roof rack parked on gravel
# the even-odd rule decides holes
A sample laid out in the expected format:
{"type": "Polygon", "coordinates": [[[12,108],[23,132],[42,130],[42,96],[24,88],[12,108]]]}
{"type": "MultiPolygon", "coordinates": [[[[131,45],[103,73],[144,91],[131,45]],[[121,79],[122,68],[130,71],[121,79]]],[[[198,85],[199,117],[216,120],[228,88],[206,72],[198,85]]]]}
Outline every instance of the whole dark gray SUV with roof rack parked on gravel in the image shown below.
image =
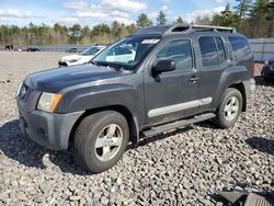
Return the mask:
{"type": "Polygon", "coordinates": [[[89,65],[26,77],[16,101],[22,131],[102,172],[128,141],[206,119],[233,126],[253,95],[254,64],[247,38],[230,27],[140,28],[89,65]]]}

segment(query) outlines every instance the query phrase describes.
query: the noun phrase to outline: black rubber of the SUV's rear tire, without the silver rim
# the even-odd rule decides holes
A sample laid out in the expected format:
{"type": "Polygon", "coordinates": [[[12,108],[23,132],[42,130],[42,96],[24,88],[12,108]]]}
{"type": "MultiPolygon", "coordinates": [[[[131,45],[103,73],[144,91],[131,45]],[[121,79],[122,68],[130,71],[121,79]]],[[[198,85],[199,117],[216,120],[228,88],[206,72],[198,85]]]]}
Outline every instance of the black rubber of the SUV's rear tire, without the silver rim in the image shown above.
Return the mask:
{"type": "Polygon", "coordinates": [[[235,125],[235,123],[238,121],[240,114],[242,111],[242,95],[241,92],[235,88],[229,88],[226,90],[226,92],[224,93],[222,98],[221,98],[221,102],[216,111],[216,118],[215,118],[215,123],[220,127],[220,128],[228,128],[235,125]],[[231,119],[228,119],[226,112],[225,112],[225,107],[226,105],[229,103],[229,101],[236,98],[238,100],[238,111],[235,112],[233,115],[231,115],[231,119]]]}

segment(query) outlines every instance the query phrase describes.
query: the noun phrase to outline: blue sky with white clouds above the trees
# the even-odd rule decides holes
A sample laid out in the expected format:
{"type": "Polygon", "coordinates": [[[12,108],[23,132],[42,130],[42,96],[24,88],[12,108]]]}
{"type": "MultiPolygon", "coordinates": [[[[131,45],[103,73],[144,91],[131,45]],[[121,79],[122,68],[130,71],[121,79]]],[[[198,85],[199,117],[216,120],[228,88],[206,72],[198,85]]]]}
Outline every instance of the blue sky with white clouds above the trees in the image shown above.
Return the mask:
{"type": "Polygon", "coordinates": [[[197,15],[222,11],[227,2],[235,3],[233,0],[0,0],[0,24],[93,26],[114,20],[129,24],[141,12],[155,21],[159,10],[164,11],[169,22],[178,16],[190,22],[197,15]]]}

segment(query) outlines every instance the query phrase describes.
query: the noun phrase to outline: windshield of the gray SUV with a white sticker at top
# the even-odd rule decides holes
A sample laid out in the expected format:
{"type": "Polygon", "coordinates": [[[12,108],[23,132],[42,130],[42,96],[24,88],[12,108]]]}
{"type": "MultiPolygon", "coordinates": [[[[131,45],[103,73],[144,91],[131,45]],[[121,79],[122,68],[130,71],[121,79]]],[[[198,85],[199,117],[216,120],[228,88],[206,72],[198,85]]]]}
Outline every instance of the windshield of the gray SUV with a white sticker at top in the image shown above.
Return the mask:
{"type": "Polygon", "coordinates": [[[128,37],[107,47],[92,62],[133,70],[159,41],[159,37],[128,37]]]}

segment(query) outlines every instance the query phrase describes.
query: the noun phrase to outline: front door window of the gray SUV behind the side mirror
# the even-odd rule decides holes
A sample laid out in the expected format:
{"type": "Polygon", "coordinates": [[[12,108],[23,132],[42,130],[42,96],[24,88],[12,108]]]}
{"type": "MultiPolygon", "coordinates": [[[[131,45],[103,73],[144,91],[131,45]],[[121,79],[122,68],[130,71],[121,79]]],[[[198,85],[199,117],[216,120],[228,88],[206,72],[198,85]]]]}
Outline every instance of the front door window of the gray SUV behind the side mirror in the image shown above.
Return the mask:
{"type": "Polygon", "coordinates": [[[190,41],[172,41],[167,43],[158,53],[156,61],[174,60],[176,70],[190,70],[193,68],[192,47],[190,41]]]}

